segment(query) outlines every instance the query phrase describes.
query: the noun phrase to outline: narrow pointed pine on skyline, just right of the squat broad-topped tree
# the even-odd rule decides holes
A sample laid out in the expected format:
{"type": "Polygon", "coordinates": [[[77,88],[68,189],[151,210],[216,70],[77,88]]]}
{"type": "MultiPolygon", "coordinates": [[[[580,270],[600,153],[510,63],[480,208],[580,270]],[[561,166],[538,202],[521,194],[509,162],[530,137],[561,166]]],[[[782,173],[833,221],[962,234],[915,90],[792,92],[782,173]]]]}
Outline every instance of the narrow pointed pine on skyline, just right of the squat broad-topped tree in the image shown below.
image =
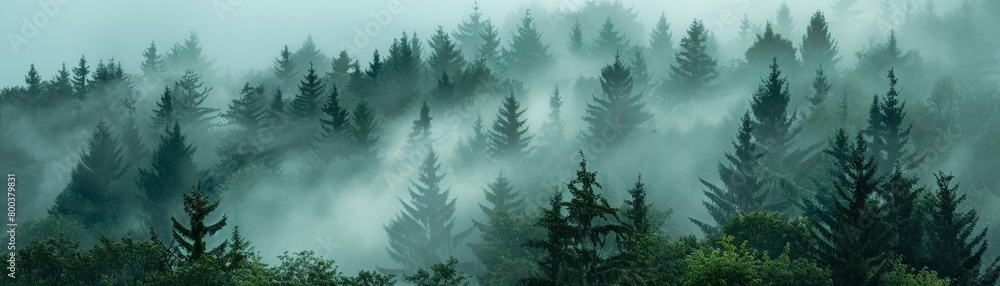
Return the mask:
{"type": "Polygon", "coordinates": [[[837,57],[837,41],[830,36],[830,28],[823,12],[816,11],[809,19],[806,34],[802,36],[802,64],[805,68],[826,67],[837,71],[840,58],[837,57]]]}

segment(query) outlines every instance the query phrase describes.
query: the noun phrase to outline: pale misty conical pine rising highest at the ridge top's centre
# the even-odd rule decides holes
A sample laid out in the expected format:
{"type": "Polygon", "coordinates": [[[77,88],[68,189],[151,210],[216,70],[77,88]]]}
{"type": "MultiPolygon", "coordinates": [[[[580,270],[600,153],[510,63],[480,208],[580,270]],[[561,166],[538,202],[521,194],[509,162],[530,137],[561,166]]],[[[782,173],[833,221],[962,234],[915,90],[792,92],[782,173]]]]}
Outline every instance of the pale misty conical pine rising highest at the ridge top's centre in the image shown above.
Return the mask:
{"type": "Polygon", "coordinates": [[[552,60],[549,45],[542,43],[542,34],[535,26],[531,11],[526,11],[517,26],[517,33],[511,38],[510,49],[506,50],[504,58],[507,62],[509,75],[517,78],[530,78],[547,67],[552,60]]]}

